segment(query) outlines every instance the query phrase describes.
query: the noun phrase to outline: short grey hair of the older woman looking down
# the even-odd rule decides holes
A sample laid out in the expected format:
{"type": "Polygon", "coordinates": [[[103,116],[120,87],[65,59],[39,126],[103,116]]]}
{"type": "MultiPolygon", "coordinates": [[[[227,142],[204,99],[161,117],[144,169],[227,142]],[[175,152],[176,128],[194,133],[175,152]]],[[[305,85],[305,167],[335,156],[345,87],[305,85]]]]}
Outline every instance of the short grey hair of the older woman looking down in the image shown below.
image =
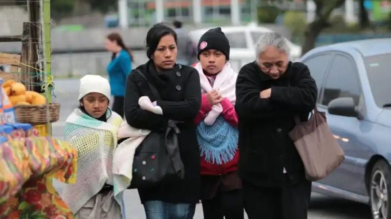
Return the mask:
{"type": "Polygon", "coordinates": [[[256,46],[257,61],[261,53],[263,53],[268,46],[276,47],[278,50],[284,52],[289,57],[290,50],[285,37],[282,37],[282,35],[277,32],[269,32],[262,34],[258,39],[256,46]]]}

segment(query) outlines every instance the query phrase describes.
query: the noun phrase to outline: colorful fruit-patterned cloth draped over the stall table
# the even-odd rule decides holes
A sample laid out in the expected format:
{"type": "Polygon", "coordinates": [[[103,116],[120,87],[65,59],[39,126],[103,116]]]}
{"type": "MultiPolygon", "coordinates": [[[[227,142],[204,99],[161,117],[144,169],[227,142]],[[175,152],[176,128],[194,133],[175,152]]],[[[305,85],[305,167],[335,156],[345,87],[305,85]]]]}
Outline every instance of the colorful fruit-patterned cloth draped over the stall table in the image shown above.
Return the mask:
{"type": "Polygon", "coordinates": [[[51,137],[0,145],[0,219],[73,219],[52,179],[76,182],[77,152],[51,137]]]}

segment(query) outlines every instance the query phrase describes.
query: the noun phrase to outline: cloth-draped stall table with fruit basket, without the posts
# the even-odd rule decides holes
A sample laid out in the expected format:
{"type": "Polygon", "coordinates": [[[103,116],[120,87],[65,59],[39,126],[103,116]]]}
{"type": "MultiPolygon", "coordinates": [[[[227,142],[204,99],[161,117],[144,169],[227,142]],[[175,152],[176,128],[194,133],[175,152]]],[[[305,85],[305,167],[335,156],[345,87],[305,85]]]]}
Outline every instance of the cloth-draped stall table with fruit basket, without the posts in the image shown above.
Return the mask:
{"type": "Polygon", "coordinates": [[[52,179],[76,182],[76,150],[33,126],[57,121],[59,110],[19,82],[0,86],[0,219],[73,219],[52,179]]]}

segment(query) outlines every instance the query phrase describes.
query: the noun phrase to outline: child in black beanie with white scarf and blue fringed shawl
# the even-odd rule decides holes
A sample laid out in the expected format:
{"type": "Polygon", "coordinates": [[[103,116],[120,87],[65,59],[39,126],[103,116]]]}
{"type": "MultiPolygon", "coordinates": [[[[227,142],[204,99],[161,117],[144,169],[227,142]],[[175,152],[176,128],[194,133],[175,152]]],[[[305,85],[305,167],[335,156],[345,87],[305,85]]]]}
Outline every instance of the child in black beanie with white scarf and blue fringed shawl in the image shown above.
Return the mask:
{"type": "Polygon", "coordinates": [[[201,109],[195,119],[201,156],[204,219],[243,219],[238,176],[237,73],[228,63],[230,45],[221,28],[208,30],[198,42],[195,65],[201,84],[201,109]]]}

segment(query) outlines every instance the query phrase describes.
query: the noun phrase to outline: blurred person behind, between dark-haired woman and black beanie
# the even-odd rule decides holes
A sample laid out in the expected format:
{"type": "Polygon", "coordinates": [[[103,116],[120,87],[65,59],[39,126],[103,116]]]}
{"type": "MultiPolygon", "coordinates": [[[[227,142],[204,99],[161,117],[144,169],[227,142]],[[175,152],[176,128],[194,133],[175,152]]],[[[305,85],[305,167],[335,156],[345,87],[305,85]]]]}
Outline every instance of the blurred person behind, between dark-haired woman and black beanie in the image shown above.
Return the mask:
{"type": "Polygon", "coordinates": [[[174,31],[177,36],[178,45],[177,62],[182,65],[191,65],[195,52],[193,48],[193,41],[185,30],[183,30],[182,22],[175,20],[173,24],[175,27],[174,31]]]}

